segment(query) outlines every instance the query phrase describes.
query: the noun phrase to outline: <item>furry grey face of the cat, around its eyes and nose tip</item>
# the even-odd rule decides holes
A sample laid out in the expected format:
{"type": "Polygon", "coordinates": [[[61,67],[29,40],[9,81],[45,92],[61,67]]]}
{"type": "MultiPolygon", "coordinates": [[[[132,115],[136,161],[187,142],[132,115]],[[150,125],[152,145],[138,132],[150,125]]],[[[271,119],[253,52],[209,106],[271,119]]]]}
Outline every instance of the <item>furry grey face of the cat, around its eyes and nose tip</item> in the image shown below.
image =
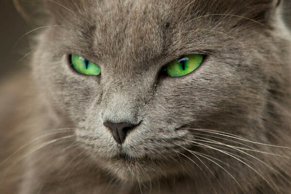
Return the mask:
{"type": "Polygon", "coordinates": [[[194,158],[185,148],[204,153],[192,142],[199,129],[265,139],[262,112],[279,68],[264,26],[268,0],[57,2],[49,5],[54,19],[40,36],[34,73],[97,165],[146,180],[182,171],[179,157],[194,158]],[[99,65],[101,76],[74,71],[70,54],[99,65]],[[207,57],[186,76],[160,75],[187,54],[207,57]],[[118,144],[106,121],[136,127],[118,144]]]}

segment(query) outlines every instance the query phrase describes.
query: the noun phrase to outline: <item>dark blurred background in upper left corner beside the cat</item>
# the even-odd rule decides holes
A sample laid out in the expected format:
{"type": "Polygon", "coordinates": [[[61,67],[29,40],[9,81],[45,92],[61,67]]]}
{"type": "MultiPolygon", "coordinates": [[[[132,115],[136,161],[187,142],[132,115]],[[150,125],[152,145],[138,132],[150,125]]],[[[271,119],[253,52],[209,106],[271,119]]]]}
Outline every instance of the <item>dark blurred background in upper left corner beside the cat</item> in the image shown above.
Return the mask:
{"type": "Polygon", "coordinates": [[[28,25],[17,13],[12,0],[0,0],[0,81],[13,74],[23,63],[18,63],[29,52],[27,38],[17,40],[28,32],[28,25]],[[15,45],[16,44],[16,45],[15,45]]]}

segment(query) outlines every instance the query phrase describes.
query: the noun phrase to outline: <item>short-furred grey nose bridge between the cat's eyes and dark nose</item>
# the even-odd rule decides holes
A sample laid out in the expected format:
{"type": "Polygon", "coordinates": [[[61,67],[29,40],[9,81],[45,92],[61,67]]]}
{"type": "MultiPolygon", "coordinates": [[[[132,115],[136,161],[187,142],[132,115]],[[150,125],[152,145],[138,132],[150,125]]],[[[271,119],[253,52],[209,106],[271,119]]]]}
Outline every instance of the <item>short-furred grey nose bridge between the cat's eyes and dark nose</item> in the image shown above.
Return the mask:
{"type": "Polygon", "coordinates": [[[103,122],[128,122],[137,125],[142,120],[141,111],[150,96],[155,78],[145,79],[145,76],[133,70],[130,72],[116,73],[114,76],[110,72],[103,78],[100,104],[103,122]]]}

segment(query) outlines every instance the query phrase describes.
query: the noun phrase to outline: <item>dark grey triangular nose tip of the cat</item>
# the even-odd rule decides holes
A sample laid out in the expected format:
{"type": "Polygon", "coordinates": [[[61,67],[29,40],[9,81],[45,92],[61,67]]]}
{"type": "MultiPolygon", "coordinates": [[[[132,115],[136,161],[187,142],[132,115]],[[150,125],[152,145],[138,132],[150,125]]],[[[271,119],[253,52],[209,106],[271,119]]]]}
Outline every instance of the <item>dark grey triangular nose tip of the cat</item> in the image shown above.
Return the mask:
{"type": "Polygon", "coordinates": [[[105,123],[103,123],[103,125],[111,129],[111,131],[113,132],[113,137],[118,144],[122,144],[125,140],[126,133],[136,126],[132,123],[113,123],[111,121],[106,121],[105,123]]]}

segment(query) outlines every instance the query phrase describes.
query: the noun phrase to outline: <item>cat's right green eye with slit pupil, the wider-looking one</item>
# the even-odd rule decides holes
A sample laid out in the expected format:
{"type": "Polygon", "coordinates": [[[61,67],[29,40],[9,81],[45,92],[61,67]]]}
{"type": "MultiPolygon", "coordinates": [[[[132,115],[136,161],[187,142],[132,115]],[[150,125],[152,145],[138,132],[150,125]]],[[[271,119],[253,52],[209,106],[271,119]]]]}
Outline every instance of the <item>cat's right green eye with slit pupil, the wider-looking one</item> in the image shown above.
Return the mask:
{"type": "Polygon", "coordinates": [[[197,69],[203,62],[201,54],[191,54],[178,58],[165,66],[165,72],[170,77],[185,76],[197,69]]]}

